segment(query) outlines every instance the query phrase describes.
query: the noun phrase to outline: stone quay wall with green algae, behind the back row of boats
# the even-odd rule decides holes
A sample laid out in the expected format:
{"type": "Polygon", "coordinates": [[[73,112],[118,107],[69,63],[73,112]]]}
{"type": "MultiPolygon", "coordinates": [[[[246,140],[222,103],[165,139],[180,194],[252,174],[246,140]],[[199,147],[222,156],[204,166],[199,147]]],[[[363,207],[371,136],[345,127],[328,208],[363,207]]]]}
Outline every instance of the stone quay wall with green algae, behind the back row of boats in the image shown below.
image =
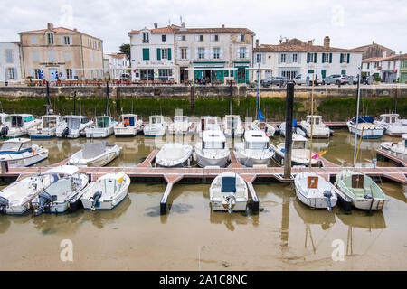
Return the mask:
{"type": "MultiPolygon", "coordinates": [[[[94,116],[106,111],[106,87],[50,87],[50,98],[55,112],[73,113],[76,94],[76,113],[94,116]]],[[[185,115],[229,114],[232,93],[232,112],[241,117],[254,117],[256,89],[246,86],[112,86],[109,87],[109,107],[114,116],[133,111],[142,117],[153,114],[174,116],[176,108],[185,115]]],[[[316,113],[326,120],[345,121],[355,115],[355,86],[316,87],[314,89],[316,113]]],[[[261,89],[261,111],[268,120],[282,120],[285,114],[286,90],[261,89]]],[[[361,113],[378,116],[397,111],[407,116],[407,87],[361,88],[361,113]]],[[[41,116],[45,112],[45,87],[0,87],[0,101],[6,113],[26,112],[41,116]]],[[[310,113],[311,88],[296,86],[294,117],[310,113]]]]}

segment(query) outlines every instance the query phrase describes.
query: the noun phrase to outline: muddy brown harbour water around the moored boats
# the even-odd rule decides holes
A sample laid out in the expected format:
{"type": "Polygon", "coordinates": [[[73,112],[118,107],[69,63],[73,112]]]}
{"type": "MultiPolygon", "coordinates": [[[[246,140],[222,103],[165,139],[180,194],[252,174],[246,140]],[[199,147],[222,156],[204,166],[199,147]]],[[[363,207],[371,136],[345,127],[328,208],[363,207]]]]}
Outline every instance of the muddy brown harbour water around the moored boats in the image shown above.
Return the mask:
{"type": "MultiPolygon", "coordinates": [[[[372,165],[374,148],[383,140],[363,142],[360,165],[372,165]]],[[[39,165],[66,159],[86,141],[35,141],[50,149],[49,159],[39,165]]],[[[113,166],[136,165],[162,145],[142,136],[107,141],[123,146],[113,166]]],[[[314,147],[327,150],[331,162],[352,163],[354,141],[338,131],[314,147]]],[[[310,210],[296,199],[291,184],[255,183],[261,211],[252,215],[212,212],[209,184],[178,183],[169,214],[160,216],[165,184],[132,183],[128,198],[111,211],[0,216],[0,270],[406,270],[407,188],[379,185],[390,199],[383,211],[346,215],[338,208],[310,210]],[[72,242],[72,262],[60,258],[64,239],[72,242]],[[344,261],[332,259],[336,247],[343,247],[344,261]]]]}

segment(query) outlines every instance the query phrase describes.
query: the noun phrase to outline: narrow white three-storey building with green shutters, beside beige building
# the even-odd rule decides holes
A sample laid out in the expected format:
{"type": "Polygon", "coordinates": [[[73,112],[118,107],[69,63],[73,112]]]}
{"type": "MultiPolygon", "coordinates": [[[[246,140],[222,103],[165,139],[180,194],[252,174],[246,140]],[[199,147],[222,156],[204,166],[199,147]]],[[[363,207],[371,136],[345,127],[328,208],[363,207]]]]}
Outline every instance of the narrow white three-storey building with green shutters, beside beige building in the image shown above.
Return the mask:
{"type": "Polygon", "coordinates": [[[175,25],[154,29],[132,30],[130,37],[131,79],[162,82],[177,79],[175,75],[175,25]]]}

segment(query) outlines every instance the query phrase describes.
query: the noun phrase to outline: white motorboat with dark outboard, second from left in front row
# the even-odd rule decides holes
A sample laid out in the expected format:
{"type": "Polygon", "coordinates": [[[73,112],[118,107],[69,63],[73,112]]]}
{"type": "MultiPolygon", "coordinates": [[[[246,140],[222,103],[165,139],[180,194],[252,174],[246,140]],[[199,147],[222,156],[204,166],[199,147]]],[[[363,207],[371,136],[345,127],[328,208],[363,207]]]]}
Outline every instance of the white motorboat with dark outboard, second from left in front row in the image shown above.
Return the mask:
{"type": "Polygon", "coordinates": [[[52,184],[32,201],[36,216],[43,213],[63,213],[80,208],[80,197],[89,177],[73,165],[62,165],[43,172],[52,176],[52,184]]]}

